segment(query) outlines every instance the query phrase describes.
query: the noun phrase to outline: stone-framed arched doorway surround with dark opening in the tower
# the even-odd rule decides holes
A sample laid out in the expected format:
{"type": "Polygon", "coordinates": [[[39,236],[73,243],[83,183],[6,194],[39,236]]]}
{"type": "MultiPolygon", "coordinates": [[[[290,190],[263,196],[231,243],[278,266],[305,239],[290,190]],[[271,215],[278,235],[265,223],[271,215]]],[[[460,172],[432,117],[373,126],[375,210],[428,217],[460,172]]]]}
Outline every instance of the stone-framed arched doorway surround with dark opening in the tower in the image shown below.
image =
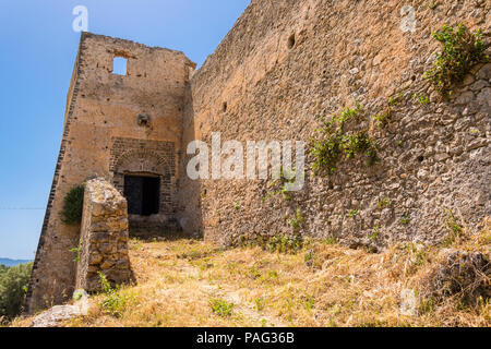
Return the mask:
{"type": "Polygon", "coordinates": [[[113,139],[110,172],[128,200],[132,236],[165,236],[176,220],[176,159],[170,142],[113,139]]]}

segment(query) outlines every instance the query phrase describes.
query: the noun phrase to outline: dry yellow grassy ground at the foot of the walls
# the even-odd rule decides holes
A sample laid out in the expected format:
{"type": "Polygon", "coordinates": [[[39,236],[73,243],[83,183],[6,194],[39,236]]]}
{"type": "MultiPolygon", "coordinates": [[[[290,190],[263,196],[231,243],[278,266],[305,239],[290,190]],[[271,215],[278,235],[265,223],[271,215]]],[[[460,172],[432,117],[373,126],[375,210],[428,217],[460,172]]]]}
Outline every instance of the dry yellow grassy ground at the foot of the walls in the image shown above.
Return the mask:
{"type": "MultiPolygon", "coordinates": [[[[489,256],[489,225],[453,244],[489,256]]],[[[307,241],[297,254],[279,254],[194,240],[133,240],[136,285],[93,297],[88,315],[65,325],[490,326],[489,301],[466,305],[458,296],[418,306],[416,316],[402,315],[402,290],[418,291],[439,252],[402,244],[373,254],[307,241]]]]}

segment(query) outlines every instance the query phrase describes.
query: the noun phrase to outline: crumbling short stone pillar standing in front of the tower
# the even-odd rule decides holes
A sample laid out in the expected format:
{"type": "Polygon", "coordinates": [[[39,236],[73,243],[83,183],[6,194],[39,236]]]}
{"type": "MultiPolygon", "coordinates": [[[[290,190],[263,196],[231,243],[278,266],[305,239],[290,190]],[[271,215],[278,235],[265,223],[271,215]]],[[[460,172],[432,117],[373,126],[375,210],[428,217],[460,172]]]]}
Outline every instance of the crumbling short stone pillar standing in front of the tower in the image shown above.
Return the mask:
{"type": "Polygon", "coordinates": [[[127,200],[105,179],[85,185],[76,289],[100,290],[98,272],[116,285],[131,278],[127,200]]]}

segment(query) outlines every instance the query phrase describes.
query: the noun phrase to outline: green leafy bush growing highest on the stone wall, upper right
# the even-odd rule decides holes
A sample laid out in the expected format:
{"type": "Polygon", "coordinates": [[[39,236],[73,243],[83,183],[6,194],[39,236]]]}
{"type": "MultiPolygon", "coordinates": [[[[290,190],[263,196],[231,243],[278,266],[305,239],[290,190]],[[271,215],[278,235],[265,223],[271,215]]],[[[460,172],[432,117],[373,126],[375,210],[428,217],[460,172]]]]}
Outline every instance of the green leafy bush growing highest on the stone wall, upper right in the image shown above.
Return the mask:
{"type": "Polygon", "coordinates": [[[452,94],[452,87],[460,83],[475,64],[489,61],[484,53],[487,47],[479,29],[470,33],[462,23],[455,27],[443,25],[432,36],[443,47],[441,52],[435,53],[436,61],[424,77],[447,97],[452,94]]]}

